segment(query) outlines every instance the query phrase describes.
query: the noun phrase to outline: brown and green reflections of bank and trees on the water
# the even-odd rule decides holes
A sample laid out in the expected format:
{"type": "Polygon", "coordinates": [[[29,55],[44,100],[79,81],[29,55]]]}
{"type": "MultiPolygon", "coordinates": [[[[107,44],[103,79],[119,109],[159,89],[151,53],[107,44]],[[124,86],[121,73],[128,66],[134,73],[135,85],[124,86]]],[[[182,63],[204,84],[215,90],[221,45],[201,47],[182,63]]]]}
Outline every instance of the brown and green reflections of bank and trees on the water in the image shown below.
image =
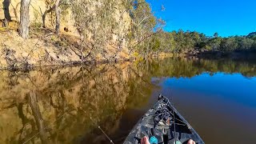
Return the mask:
{"type": "Polygon", "coordinates": [[[154,104],[152,95],[161,92],[163,79],[218,72],[253,78],[256,65],[167,58],[0,71],[0,143],[109,143],[98,126],[115,143],[122,143],[154,104]]]}

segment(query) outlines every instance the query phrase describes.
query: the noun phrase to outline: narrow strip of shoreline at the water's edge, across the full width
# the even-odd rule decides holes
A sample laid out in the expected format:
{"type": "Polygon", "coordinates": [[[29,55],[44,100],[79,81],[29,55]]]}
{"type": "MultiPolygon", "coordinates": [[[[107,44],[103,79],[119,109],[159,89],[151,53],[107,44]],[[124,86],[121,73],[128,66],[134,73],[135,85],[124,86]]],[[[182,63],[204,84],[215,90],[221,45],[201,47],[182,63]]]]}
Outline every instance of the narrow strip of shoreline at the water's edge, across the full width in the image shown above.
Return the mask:
{"type": "Polygon", "coordinates": [[[192,60],[221,60],[221,59],[230,59],[230,60],[256,60],[256,52],[208,52],[207,54],[189,54],[189,53],[160,53],[150,55],[146,58],[115,58],[113,60],[101,60],[101,61],[76,61],[76,62],[66,62],[66,63],[56,63],[48,65],[30,65],[22,63],[19,66],[0,66],[0,70],[9,70],[9,71],[30,71],[42,69],[43,67],[72,67],[72,66],[96,66],[101,64],[115,64],[115,63],[124,63],[124,62],[141,62],[146,59],[165,59],[165,58],[185,58],[192,60]]]}

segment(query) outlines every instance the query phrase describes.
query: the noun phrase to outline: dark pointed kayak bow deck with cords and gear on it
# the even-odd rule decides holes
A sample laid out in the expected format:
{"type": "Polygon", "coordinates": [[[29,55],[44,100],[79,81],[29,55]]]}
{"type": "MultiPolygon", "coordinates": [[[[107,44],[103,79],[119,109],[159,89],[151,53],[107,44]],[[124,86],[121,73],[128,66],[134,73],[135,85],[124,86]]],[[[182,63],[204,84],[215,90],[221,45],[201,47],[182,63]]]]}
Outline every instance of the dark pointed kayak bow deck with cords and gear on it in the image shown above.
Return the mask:
{"type": "Polygon", "coordinates": [[[150,138],[152,135],[158,138],[158,143],[162,144],[174,144],[175,142],[186,144],[190,139],[198,144],[204,144],[202,138],[170,104],[168,98],[162,96],[154,108],[148,110],[130,131],[124,144],[138,144],[140,138],[144,136],[150,138]]]}

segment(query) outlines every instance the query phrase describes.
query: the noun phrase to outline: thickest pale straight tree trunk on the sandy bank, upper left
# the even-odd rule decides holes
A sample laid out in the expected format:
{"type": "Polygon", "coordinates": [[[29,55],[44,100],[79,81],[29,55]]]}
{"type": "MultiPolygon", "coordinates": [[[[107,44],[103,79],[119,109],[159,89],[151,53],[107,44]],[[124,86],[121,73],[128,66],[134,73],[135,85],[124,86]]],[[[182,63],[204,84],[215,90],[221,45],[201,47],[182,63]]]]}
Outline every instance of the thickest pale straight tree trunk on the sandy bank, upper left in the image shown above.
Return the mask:
{"type": "Polygon", "coordinates": [[[30,32],[30,2],[31,0],[22,0],[21,2],[21,17],[19,23],[18,34],[22,38],[29,38],[30,32]]]}

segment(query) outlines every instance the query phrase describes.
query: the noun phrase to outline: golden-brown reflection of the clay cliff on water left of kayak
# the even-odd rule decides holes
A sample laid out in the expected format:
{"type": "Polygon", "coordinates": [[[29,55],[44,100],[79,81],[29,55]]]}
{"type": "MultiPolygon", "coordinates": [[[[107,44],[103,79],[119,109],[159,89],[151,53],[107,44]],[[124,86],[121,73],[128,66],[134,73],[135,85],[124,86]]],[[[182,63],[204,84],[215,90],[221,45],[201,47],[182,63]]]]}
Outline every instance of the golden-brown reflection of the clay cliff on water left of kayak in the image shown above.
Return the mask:
{"type": "Polygon", "coordinates": [[[114,133],[123,111],[145,103],[150,87],[130,63],[2,71],[0,143],[104,142],[97,126],[114,133]]]}

